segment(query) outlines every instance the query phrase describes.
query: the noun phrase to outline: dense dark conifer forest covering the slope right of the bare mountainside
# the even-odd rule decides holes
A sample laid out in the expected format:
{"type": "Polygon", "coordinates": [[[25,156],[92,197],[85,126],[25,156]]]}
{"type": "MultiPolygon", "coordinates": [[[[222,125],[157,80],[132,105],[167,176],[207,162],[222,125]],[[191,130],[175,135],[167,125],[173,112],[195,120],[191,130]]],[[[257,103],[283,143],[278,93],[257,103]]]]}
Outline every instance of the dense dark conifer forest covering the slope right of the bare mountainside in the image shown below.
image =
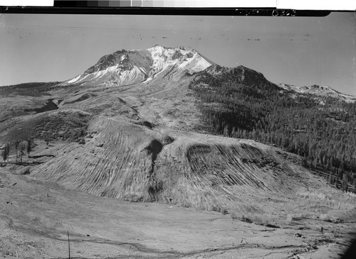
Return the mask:
{"type": "Polygon", "coordinates": [[[330,184],[356,187],[356,104],[258,83],[203,72],[190,88],[214,133],[278,145],[305,167],[330,172],[330,184]]]}

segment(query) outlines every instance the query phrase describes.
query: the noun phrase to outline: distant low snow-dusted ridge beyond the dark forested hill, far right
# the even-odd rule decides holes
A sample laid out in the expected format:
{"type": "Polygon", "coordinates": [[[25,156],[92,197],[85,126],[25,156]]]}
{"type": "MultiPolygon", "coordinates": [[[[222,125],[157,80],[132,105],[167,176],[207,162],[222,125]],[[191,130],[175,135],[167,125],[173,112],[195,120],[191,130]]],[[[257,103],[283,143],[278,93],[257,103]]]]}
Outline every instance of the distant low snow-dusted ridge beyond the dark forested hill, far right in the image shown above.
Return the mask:
{"type": "Polygon", "coordinates": [[[298,94],[313,94],[318,97],[333,97],[347,102],[356,101],[356,97],[349,94],[342,94],[331,87],[313,84],[310,87],[298,87],[292,84],[279,84],[279,87],[296,92],[298,94]]]}

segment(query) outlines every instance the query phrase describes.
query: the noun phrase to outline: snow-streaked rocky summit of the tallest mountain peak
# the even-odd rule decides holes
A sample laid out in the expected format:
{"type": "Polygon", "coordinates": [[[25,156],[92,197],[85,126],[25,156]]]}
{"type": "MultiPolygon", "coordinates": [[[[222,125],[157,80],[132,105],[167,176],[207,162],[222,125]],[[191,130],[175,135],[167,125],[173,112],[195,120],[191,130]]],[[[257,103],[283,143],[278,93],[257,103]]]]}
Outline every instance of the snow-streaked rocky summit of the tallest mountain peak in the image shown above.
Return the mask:
{"type": "Polygon", "coordinates": [[[118,50],[105,55],[83,74],[73,77],[68,84],[134,84],[155,78],[177,80],[183,75],[199,72],[214,62],[192,48],[164,48],[155,45],[147,50],[118,50]]]}

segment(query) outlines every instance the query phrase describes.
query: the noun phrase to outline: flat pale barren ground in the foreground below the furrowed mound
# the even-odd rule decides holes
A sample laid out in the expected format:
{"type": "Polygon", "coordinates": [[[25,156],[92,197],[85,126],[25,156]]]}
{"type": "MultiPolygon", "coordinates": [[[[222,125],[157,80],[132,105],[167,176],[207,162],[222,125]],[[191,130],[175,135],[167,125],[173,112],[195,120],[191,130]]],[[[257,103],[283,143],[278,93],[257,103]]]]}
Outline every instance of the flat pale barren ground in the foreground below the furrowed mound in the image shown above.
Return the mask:
{"type": "Polygon", "coordinates": [[[70,258],[339,258],[355,233],[350,220],[276,214],[268,221],[278,228],[261,226],[215,211],[95,197],[14,172],[0,167],[1,258],[68,258],[67,231],[70,258]]]}

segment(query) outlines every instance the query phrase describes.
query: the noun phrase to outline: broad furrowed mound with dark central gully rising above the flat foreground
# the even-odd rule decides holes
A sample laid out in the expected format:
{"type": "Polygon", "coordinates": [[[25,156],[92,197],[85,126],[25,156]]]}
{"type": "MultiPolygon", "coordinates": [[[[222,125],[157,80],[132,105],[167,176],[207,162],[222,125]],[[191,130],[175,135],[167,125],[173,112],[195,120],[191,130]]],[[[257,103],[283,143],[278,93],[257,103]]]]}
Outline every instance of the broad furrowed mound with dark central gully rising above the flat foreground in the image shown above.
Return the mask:
{"type": "Polygon", "coordinates": [[[99,118],[85,144],[68,143],[31,175],[98,196],[263,213],[268,208],[258,199],[264,193],[316,184],[297,160],[252,140],[99,118]]]}

